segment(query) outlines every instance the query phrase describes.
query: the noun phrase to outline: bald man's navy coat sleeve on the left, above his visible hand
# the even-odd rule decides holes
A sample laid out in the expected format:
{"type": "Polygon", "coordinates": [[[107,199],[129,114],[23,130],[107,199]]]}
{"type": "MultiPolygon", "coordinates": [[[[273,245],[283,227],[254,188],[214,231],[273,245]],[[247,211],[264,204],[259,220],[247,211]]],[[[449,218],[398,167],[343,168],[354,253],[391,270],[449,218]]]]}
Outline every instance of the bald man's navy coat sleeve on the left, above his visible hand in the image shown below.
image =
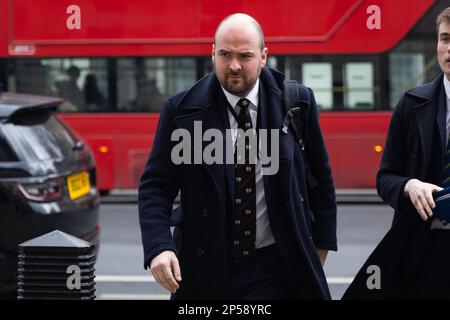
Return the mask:
{"type": "Polygon", "coordinates": [[[174,129],[174,107],[166,101],[138,191],[144,268],[162,251],[176,252],[170,232],[173,201],[179,191],[178,166],[171,161],[174,129]]]}

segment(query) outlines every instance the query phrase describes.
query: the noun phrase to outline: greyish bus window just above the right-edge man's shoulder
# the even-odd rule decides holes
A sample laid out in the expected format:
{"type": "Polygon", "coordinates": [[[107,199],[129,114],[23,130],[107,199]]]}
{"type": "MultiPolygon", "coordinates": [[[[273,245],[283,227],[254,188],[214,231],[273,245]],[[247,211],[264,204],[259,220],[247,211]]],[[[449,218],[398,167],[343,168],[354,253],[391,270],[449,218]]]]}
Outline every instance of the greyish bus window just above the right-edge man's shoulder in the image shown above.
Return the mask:
{"type": "Polygon", "coordinates": [[[391,53],[389,67],[390,105],[394,108],[406,90],[425,82],[425,57],[423,53],[391,53]]]}

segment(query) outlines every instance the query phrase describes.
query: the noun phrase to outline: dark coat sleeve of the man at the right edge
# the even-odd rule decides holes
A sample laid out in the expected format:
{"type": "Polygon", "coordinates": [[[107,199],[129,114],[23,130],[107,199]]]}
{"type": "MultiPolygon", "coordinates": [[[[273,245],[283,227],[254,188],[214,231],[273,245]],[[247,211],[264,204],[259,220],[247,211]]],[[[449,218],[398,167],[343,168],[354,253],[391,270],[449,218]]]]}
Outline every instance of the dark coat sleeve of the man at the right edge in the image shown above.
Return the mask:
{"type": "Polygon", "coordinates": [[[377,173],[377,191],[384,202],[395,210],[401,210],[407,203],[403,195],[406,182],[406,130],[405,96],[398,102],[389,124],[389,130],[377,173]]]}

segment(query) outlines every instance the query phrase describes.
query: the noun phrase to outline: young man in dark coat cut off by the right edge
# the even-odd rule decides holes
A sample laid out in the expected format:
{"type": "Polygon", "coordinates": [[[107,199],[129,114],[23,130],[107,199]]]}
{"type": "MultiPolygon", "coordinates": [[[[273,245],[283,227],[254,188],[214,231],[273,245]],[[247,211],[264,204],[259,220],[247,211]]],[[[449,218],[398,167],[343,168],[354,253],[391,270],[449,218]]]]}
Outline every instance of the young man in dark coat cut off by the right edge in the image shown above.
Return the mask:
{"type": "Polygon", "coordinates": [[[450,7],[436,28],[443,74],[400,99],[377,176],[392,228],[343,299],[450,298],[450,225],[432,211],[433,192],[450,186],[450,7]]]}

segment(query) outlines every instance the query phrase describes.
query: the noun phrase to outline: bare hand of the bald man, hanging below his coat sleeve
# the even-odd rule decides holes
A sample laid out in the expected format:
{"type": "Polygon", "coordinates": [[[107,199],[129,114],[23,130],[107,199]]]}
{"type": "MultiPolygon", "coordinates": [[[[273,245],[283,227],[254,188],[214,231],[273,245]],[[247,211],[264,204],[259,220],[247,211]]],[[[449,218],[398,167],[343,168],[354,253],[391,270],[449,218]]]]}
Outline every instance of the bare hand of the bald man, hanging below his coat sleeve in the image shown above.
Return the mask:
{"type": "Polygon", "coordinates": [[[177,256],[173,251],[163,251],[150,263],[150,270],[161,286],[175,293],[178,288],[178,282],[181,281],[180,265],[177,256]]]}

